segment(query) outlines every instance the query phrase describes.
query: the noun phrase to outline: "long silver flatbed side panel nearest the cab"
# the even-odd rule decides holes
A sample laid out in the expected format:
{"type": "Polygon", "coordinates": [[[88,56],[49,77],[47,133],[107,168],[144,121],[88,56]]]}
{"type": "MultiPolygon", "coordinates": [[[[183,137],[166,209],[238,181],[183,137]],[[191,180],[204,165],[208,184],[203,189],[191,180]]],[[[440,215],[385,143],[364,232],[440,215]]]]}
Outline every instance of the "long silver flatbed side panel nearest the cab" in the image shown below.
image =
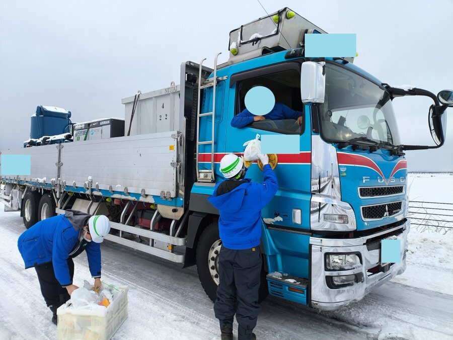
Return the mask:
{"type": "Polygon", "coordinates": [[[64,144],[61,181],[93,189],[176,197],[177,131],[64,144]],[[74,183],[75,182],[75,183],[74,183]]]}

